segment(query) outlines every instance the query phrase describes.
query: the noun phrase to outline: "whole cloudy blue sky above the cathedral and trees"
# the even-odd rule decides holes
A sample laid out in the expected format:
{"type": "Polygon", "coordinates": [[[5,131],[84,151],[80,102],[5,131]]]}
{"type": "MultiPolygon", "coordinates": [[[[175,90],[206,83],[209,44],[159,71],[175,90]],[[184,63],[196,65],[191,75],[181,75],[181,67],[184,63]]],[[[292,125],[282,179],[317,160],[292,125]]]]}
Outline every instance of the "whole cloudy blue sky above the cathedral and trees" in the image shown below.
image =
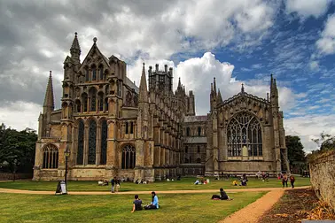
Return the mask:
{"type": "Polygon", "coordinates": [[[12,1],[0,3],[0,122],[37,129],[49,71],[60,106],[62,63],[78,32],[83,60],[97,46],[128,63],[139,83],[142,63],[174,68],[209,111],[216,77],[223,100],[245,91],[266,97],[279,86],[286,135],[306,151],[321,132],[335,135],[335,3],[331,0],[12,1]]]}

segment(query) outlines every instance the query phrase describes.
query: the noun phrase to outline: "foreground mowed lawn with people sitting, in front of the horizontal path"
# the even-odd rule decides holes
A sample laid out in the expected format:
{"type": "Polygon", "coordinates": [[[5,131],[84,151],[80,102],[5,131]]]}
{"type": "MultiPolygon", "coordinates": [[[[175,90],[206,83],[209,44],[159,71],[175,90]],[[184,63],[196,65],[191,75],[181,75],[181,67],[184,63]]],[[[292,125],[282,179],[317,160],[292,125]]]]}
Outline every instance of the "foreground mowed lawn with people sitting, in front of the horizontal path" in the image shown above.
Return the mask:
{"type": "MultiPolygon", "coordinates": [[[[160,209],[131,213],[132,195],[45,196],[0,193],[0,222],[217,222],[266,192],[230,194],[232,201],[211,200],[212,194],[158,194],[160,209]]],[[[144,204],[151,194],[141,195],[144,204]]]]}

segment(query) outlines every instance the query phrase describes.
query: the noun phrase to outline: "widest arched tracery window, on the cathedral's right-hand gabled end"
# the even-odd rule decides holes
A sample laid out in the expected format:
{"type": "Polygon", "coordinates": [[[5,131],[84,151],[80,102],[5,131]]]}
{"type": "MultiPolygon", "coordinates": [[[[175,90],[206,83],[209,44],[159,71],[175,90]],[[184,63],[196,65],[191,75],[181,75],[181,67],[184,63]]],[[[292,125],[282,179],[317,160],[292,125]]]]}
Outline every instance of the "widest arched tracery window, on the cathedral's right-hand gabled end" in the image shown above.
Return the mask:
{"type": "Polygon", "coordinates": [[[261,124],[252,115],[240,112],[230,120],[227,128],[228,156],[242,156],[243,148],[248,151],[248,156],[262,156],[261,124]]]}

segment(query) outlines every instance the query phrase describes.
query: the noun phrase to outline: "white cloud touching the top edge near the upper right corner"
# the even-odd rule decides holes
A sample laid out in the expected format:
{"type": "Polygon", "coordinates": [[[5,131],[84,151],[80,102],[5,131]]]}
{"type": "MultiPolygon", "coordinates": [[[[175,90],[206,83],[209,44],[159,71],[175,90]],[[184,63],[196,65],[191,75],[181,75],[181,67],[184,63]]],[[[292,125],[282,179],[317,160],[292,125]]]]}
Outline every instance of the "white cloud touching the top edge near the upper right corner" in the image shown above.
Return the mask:
{"type": "Polygon", "coordinates": [[[319,17],[323,15],[331,3],[331,0],[287,0],[287,12],[297,12],[301,17],[319,17]]]}

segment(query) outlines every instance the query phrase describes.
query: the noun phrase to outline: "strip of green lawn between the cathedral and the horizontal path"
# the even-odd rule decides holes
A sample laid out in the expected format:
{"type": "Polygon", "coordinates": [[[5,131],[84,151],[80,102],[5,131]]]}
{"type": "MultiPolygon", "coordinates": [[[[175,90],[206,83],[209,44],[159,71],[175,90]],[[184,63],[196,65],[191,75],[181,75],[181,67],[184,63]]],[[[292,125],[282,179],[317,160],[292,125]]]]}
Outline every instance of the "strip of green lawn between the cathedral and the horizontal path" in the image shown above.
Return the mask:
{"type": "MultiPolygon", "coordinates": [[[[196,178],[182,178],[182,181],[155,181],[150,184],[135,184],[133,182],[121,183],[121,191],[148,191],[148,190],[177,190],[177,189],[209,189],[209,188],[280,188],[281,181],[275,178],[269,179],[269,182],[263,182],[249,178],[248,186],[236,187],[232,186],[230,181],[219,180],[215,181],[210,178],[210,183],[206,185],[194,185],[196,178]]],[[[310,185],[309,178],[296,177],[295,186],[310,185]]],[[[18,188],[30,190],[56,190],[56,181],[0,181],[0,188],[18,188]]],[[[97,186],[97,181],[68,181],[67,188],[69,191],[109,191],[110,186],[97,186]]]]}

